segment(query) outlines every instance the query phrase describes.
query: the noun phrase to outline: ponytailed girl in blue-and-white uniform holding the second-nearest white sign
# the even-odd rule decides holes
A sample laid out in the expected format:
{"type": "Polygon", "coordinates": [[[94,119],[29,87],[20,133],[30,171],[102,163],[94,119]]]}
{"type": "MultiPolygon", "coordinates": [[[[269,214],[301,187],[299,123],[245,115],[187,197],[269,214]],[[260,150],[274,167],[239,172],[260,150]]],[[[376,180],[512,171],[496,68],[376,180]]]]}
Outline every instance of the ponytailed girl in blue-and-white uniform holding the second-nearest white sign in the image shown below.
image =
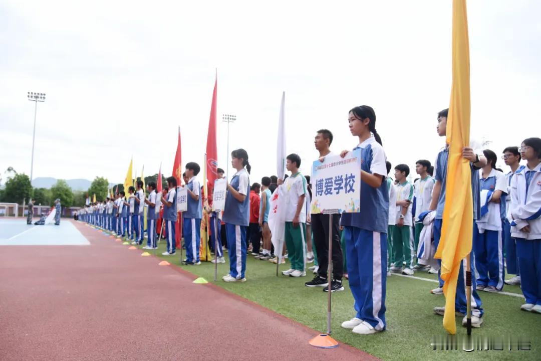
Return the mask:
{"type": "Polygon", "coordinates": [[[245,282],[246,231],[250,222],[250,163],[244,149],[231,152],[231,165],[237,170],[227,185],[223,221],[226,223],[229,273],[222,277],[226,282],[245,282]],[[245,168],[246,167],[246,168],[245,168]]]}

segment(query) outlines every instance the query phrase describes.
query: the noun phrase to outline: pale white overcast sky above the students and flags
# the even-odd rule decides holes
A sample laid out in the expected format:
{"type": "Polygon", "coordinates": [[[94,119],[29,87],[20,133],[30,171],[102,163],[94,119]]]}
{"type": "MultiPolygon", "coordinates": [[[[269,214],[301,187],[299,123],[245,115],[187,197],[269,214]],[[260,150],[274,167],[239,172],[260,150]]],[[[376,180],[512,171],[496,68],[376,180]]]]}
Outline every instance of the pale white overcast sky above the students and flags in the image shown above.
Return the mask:
{"type": "MultiPolygon", "coordinates": [[[[393,165],[436,158],[436,114],[451,89],[451,0],[0,3],[0,170],[34,178],[105,176],[123,182],[131,156],[140,175],[170,175],[177,128],[182,163],[203,163],[215,68],[219,167],[245,148],[250,181],[276,173],[276,133],[286,91],[287,152],[301,171],[313,137],[357,145],[348,110],[377,115],[393,165]]],[[[470,0],[472,136],[500,154],[541,136],[541,2],[470,0]]],[[[229,161],[228,161],[229,163],[229,161]]],[[[504,167],[499,161],[499,166],[504,167]]],[[[506,169],[505,169],[506,170],[506,169]]],[[[233,172],[230,172],[230,176],[233,172]]]]}

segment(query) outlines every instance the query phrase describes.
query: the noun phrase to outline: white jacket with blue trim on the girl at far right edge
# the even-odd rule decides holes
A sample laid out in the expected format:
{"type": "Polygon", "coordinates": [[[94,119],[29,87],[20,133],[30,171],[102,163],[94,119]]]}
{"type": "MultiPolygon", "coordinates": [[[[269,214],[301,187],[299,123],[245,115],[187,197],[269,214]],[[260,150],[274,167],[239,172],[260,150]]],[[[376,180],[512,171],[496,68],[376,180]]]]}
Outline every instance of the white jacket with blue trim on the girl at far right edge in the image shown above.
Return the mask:
{"type": "Polygon", "coordinates": [[[541,239],[541,163],[513,175],[509,222],[512,237],[541,239]],[[530,226],[530,232],[521,231],[525,226],[530,226]]]}

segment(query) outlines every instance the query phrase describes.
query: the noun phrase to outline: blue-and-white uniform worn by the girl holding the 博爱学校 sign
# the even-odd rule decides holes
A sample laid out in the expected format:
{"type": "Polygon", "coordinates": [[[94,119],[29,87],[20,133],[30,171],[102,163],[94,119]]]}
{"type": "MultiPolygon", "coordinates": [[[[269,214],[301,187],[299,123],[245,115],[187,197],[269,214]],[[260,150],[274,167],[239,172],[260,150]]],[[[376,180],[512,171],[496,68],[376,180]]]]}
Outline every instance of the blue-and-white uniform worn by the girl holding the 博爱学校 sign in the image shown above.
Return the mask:
{"type": "MultiPolygon", "coordinates": [[[[346,241],[349,288],[355,300],[355,317],[377,331],[386,327],[385,296],[387,287],[387,229],[389,194],[383,148],[370,137],[353,150],[360,150],[361,169],[383,176],[381,186],[371,187],[360,179],[362,212],[342,213],[346,241]]],[[[314,175],[315,176],[315,175],[314,175]]]]}

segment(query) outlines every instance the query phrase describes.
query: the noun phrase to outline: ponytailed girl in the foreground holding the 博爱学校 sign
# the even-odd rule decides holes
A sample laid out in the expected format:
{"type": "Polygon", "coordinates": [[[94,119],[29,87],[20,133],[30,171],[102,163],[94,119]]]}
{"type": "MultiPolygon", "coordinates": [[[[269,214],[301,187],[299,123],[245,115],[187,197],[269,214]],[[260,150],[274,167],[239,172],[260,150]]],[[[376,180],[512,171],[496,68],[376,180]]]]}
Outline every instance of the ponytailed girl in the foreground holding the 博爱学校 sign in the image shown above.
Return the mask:
{"type": "MultiPolygon", "coordinates": [[[[375,130],[374,109],[368,106],[349,110],[349,130],[359,137],[361,150],[361,213],[342,213],[341,226],[346,239],[349,287],[357,314],[342,323],[354,333],[384,331],[387,276],[387,225],[389,194],[384,181],[387,174],[385,152],[375,130]]],[[[345,157],[348,150],[342,151],[345,157]]]]}

